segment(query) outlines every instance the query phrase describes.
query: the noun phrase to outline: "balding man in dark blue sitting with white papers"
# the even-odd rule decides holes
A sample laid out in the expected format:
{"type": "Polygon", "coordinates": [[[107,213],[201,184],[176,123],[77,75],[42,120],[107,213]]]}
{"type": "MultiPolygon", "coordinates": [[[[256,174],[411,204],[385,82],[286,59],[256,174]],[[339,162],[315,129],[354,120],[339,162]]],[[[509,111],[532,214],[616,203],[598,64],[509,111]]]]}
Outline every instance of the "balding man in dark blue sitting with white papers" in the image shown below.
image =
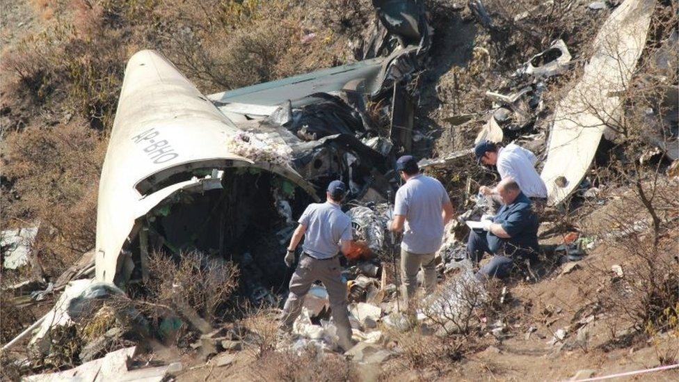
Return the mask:
{"type": "Polygon", "coordinates": [[[483,231],[472,230],[467,253],[478,264],[485,252],[493,255],[476,274],[478,280],[509,275],[515,260],[535,260],[538,253],[538,218],[531,201],[511,177],[497,184],[503,202],[495,217],[481,220],[483,231]]]}

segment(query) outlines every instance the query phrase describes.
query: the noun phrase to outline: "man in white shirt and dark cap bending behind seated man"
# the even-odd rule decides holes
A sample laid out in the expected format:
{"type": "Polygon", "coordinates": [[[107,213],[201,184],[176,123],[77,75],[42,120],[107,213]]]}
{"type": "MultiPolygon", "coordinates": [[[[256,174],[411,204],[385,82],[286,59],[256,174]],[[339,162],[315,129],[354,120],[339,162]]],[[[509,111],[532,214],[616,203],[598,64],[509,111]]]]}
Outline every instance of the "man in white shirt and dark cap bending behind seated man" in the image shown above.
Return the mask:
{"type": "MultiPolygon", "coordinates": [[[[531,199],[547,198],[547,186],[535,170],[538,159],[530,150],[509,143],[505,148],[493,142],[481,140],[474,147],[479,163],[497,166],[501,179],[511,177],[518,183],[522,193],[531,199]]],[[[497,194],[495,187],[481,186],[479,192],[492,196],[497,194]]]]}

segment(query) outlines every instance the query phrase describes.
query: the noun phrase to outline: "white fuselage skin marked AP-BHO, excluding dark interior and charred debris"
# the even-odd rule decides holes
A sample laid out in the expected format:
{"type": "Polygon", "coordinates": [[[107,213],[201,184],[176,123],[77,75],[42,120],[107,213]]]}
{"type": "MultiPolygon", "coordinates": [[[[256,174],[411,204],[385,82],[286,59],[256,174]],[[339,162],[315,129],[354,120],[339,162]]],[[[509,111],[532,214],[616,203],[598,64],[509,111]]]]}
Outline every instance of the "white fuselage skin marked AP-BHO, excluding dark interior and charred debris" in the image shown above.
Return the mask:
{"type": "MultiPolygon", "coordinates": [[[[240,132],[165,58],[154,51],[130,58],[99,185],[97,280],[113,282],[125,262],[131,268],[133,260],[122,250],[141,228],[139,218],[180,190],[220,182],[194,177],[195,170],[260,168],[314,193],[288,164],[235,153],[240,132]]],[[[272,150],[251,144],[255,152],[272,150]]]]}

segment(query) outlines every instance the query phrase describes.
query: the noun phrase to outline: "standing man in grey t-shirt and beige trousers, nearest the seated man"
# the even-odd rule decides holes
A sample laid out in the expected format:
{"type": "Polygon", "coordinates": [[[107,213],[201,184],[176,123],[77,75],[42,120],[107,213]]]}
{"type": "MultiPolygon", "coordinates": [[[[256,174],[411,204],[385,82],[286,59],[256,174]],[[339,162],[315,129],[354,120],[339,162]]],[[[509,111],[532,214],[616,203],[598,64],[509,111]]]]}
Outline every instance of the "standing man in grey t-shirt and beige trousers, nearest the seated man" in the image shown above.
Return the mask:
{"type": "Polygon", "coordinates": [[[443,227],[453,216],[453,206],[441,182],[422,175],[415,158],[400,157],[396,170],[406,184],[396,192],[390,230],[404,230],[401,274],[407,301],[415,294],[420,266],[424,269],[426,291],[431,293],[436,287],[434,255],[441,246],[443,227]]]}

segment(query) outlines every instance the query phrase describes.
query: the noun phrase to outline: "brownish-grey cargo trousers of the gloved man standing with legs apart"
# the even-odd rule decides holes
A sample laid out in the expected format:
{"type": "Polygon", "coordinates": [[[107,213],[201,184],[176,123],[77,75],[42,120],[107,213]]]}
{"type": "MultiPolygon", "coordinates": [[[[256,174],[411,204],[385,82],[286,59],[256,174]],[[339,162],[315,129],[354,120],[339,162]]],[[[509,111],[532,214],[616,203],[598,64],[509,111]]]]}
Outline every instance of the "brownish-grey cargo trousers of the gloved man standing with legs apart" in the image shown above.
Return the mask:
{"type": "Polygon", "coordinates": [[[340,337],[340,347],[349,350],[347,347],[351,347],[351,324],[349,312],[346,310],[346,282],[342,282],[340,257],[316,260],[306,253],[301,255],[290,280],[290,294],[283,307],[280,328],[283,331],[291,331],[292,324],[302,310],[304,296],[316,280],[321,280],[328,291],[330,310],[337,325],[337,336],[340,337]]]}

